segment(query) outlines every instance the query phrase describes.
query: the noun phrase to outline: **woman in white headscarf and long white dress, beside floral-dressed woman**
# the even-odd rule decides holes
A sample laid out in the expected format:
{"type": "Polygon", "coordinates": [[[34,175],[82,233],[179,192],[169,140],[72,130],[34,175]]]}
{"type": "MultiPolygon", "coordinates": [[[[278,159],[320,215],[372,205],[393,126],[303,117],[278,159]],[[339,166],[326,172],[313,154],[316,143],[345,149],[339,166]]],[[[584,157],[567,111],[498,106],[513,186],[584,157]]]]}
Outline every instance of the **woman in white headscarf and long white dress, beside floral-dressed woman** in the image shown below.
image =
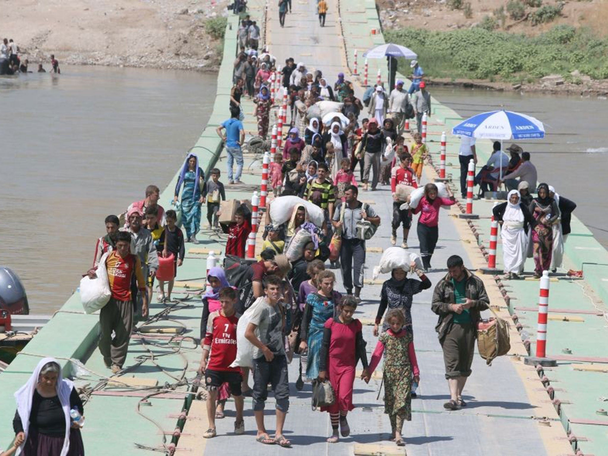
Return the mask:
{"type": "Polygon", "coordinates": [[[494,219],[501,226],[502,258],[506,279],[519,278],[528,250],[528,230],[534,224],[530,209],[522,204],[517,190],[509,192],[506,202],[494,206],[494,219]]]}

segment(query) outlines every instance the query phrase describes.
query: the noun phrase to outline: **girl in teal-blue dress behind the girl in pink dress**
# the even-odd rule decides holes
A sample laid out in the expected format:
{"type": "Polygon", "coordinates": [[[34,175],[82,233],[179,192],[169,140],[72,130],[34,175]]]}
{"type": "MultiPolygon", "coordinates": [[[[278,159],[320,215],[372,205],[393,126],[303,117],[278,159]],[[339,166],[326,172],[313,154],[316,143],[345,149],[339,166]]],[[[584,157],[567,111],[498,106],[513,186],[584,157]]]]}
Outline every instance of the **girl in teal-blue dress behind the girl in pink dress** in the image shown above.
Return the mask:
{"type": "Polygon", "coordinates": [[[306,297],[302,328],[300,330],[300,353],[308,351],[306,378],[309,381],[319,376],[319,359],[323,341],[323,325],[336,317],[337,305],[342,295],[334,291],[336,275],[331,271],[321,271],[317,275],[317,292],[306,297]]]}

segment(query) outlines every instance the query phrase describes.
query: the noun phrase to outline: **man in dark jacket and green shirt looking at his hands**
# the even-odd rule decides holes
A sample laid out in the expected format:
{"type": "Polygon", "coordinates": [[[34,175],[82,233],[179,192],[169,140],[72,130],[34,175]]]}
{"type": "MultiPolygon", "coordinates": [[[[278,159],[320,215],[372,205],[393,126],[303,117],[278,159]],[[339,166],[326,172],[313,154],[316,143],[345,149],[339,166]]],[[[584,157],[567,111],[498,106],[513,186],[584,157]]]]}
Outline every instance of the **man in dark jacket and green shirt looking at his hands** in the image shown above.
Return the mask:
{"type": "Polygon", "coordinates": [[[443,350],[451,396],[443,408],[458,410],[466,407],[462,390],[471,375],[477,323],[481,311],[488,308],[489,298],[482,280],[465,268],[458,255],[447,258],[447,270],[435,286],[431,309],[439,316],[435,331],[443,350]]]}

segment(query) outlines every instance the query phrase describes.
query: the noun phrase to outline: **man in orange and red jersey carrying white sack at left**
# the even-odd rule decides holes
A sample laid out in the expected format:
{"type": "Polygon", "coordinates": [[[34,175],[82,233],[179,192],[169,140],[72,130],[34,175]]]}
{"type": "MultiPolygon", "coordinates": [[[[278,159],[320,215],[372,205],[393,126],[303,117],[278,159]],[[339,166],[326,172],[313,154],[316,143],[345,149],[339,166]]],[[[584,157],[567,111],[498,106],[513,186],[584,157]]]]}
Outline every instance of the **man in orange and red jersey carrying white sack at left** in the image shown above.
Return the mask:
{"type": "MultiPolygon", "coordinates": [[[[143,298],[142,315],[148,316],[148,295],[143,280],[142,264],[137,255],[130,252],[131,234],[120,231],[116,237],[116,249],[106,258],[106,269],[112,296],[99,314],[101,336],[99,351],[102,353],[106,367],[112,373],[122,370],[126,352],[131,339],[133,326],[133,296],[131,295],[131,277],[135,274],[137,288],[143,298]],[[114,339],[112,339],[114,331],[114,339]]],[[[89,277],[91,274],[89,274],[89,277]]]]}

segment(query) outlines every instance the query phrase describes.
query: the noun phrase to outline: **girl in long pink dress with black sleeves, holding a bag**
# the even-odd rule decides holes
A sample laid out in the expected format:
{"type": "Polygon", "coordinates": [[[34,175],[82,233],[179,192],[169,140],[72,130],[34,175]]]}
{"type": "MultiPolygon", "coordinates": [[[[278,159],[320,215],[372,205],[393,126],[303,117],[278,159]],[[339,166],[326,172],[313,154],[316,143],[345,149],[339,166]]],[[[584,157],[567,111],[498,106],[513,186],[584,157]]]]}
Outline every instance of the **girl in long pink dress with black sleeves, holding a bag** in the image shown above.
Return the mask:
{"type": "Polygon", "coordinates": [[[361,358],[363,373],[369,376],[365,342],[361,332],[361,322],[353,319],[357,302],[346,296],[338,305],[337,317],[330,318],[323,328],[323,342],[319,359],[319,379],[329,379],[334,389],[336,401],[330,407],[321,407],[322,412],[330,413],[332,435],[329,443],[339,440],[338,425],[342,437],[350,435],[347,413],[353,410],[353,383],[356,365],[361,358]]]}

